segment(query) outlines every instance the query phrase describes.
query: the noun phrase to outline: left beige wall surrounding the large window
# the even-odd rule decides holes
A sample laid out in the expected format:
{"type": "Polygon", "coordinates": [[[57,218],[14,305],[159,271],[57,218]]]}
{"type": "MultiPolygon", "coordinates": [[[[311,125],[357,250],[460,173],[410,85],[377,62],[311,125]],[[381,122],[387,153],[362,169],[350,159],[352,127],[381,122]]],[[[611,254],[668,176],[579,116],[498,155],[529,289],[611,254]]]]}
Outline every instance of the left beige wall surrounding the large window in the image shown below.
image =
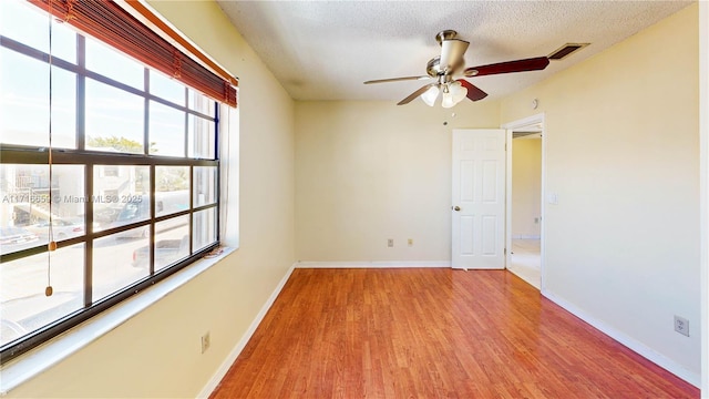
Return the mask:
{"type": "Polygon", "coordinates": [[[9,398],[195,397],[295,260],[294,102],[216,3],[152,4],[242,79],[240,248],[9,398]],[[207,330],[212,347],[201,355],[207,330]]]}

